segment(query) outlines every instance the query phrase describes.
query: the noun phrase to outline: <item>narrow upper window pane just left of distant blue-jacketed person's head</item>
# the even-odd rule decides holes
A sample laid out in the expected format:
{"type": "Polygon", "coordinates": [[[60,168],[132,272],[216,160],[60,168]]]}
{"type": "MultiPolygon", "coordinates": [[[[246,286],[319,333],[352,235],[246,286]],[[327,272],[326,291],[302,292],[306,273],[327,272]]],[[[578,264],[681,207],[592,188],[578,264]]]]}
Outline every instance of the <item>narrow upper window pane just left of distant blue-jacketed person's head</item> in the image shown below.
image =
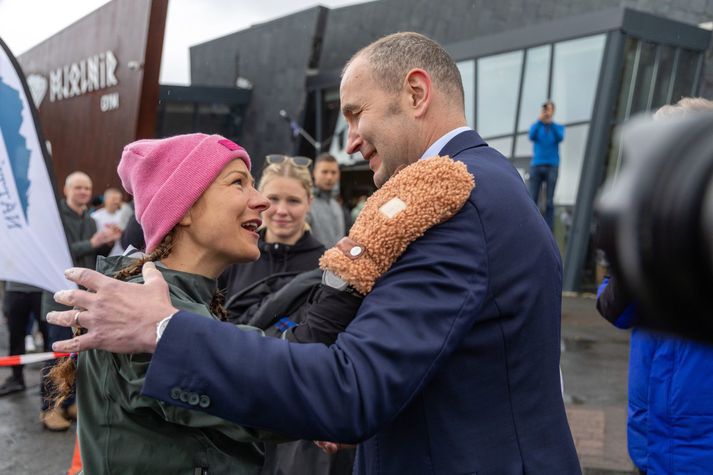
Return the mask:
{"type": "Polygon", "coordinates": [[[542,104],[548,99],[550,49],[550,46],[546,45],[527,50],[520,117],[517,125],[518,132],[529,129],[530,125],[537,120],[542,104]]]}

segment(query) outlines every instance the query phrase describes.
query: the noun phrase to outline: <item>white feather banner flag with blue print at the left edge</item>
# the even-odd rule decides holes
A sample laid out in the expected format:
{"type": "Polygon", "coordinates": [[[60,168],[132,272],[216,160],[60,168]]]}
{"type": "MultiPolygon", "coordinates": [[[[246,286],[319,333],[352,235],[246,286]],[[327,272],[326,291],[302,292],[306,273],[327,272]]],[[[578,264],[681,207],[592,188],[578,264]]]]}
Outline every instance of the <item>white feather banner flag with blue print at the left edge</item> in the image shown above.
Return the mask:
{"type": "Polygon", "coordinates": [[[50,292],[75,287],[40,139],[37,113],[20,66],[0,39],[0,280],[50,292]]]}

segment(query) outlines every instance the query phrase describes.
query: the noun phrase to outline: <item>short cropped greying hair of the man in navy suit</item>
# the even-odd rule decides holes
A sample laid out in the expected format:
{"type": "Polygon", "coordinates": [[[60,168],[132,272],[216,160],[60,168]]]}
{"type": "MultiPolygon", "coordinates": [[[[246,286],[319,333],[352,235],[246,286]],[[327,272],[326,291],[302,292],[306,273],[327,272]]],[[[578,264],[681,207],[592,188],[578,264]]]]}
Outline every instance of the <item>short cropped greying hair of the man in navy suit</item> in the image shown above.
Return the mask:
{"type": "Polygon", "coordinates": [[[361,56],[372,66],[376,81],[386,91],[400,91],[406,73],[420,68],[428,72],[439,90],[464,104],[458,66],[441,45],[427,36],[414,32],[384,36],[357,51],[347,62],[342,75],[354,59],[361,56]]]}

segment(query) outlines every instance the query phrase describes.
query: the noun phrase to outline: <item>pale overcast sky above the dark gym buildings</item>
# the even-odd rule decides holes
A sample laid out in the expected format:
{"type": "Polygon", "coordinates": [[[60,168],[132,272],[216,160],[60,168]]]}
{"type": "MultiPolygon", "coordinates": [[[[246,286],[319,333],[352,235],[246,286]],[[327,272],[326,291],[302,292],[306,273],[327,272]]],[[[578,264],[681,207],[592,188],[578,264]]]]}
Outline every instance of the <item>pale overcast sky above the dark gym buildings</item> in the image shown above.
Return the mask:
{"type": "MultiPolygon", "coordinates": [[[[363,1],[169,0],[160,81],[189,83],[189,46],[315,5],[336,8],[363,1]]],[[[19,56],[106,3],[107,0],[0,0],[0,38],[19,56]]]]}

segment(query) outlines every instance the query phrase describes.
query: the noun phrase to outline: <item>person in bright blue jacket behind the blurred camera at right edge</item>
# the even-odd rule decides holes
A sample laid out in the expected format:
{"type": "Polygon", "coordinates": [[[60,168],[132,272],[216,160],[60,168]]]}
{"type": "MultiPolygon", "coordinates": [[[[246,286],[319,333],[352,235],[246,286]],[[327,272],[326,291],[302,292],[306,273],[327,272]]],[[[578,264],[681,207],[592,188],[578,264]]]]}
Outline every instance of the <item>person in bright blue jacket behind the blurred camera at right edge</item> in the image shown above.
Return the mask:
{"type": "MultiPolygon", "coordinates": [[[[686,97],[660,108],[655,120],[713,111],[713,101],[686,97]]],[[[680,158],[680,157],[672,157],[680,158]]],[[[632,329],[627,445],[641,474],[706,474],[713,467],[713,347],[643,327],[641,302],[622,275],[605,278],[597,310],[632,329]]],[[[679,314],[678,318],[683,318],[679,314]]]]}

